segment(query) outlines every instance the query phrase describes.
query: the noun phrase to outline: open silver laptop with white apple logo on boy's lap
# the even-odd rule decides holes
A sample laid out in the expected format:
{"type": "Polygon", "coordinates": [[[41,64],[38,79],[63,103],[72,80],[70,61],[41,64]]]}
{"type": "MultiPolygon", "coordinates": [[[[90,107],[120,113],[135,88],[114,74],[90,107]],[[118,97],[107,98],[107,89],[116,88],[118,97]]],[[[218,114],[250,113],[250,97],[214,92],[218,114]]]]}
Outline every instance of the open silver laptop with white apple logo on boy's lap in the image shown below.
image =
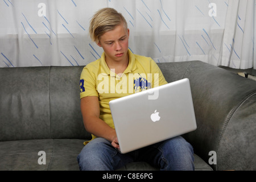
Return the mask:
{"type": "Polygon", "coordinates": [[[197,127],[188,78],[117,98],[109,106],[122,154],[197,127]]]}

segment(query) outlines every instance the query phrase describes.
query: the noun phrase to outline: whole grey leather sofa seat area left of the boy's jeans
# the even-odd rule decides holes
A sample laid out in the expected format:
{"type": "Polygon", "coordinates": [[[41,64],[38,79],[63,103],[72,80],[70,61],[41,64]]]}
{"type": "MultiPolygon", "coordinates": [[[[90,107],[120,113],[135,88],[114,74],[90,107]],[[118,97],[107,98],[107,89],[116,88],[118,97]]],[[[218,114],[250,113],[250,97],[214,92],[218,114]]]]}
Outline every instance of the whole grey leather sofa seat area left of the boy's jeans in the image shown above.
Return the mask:
{"type": "MultiPolygon", "coordinates": [[[[34,139],[0,142],[0,171],[79,170],[77,155],[84,147],[82,139],[34,139]],[[46,164],[38,160],[46,152],[46,164]]],[[[40,160],[41,161],[41,160],[40,160]]]]}

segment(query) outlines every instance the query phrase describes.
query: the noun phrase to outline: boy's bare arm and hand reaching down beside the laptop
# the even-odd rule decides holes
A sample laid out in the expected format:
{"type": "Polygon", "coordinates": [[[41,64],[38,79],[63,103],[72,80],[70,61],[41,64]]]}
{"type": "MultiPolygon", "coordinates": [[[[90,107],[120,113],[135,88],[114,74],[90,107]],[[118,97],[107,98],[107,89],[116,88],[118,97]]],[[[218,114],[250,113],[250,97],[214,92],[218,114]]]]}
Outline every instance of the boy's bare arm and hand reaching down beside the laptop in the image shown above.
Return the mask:
{"type": "Polygon", "coordinates": [[[109,140],[112,142],[113,147],[119,148],[115,129],[112,129],[112,127],[100,119],[98,97],[88,96],[81,98],[81,112],[86,131],[96,137],[109,140]]]}

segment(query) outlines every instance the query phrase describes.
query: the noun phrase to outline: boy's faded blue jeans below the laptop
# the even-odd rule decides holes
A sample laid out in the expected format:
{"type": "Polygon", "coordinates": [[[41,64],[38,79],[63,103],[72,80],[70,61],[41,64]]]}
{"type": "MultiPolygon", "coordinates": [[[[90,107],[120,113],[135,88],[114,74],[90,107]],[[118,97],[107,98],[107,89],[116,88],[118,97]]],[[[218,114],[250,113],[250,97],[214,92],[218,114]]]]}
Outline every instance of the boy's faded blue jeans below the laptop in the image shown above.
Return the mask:
{"type": "Polygon", "coordinates": [[[77,156],[80,170],[115,170],[131,162],[147,162],[161,170],[194,170],[193,148],[182,137],[121,154],[104,138],[90,141],[77,156]]]}

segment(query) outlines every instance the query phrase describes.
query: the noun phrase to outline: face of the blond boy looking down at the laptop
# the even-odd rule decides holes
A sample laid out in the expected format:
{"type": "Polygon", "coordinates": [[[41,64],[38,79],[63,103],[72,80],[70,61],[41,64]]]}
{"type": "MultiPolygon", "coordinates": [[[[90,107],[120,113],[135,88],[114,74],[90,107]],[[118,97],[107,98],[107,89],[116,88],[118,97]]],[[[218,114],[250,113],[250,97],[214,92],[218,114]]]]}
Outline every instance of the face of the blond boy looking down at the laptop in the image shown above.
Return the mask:
{"type": "Polygon", "coordinates": [[[118,25],[100,36],[98,46],[104,49],[107,61],[127,61],[129,29],[118,25]]]}

